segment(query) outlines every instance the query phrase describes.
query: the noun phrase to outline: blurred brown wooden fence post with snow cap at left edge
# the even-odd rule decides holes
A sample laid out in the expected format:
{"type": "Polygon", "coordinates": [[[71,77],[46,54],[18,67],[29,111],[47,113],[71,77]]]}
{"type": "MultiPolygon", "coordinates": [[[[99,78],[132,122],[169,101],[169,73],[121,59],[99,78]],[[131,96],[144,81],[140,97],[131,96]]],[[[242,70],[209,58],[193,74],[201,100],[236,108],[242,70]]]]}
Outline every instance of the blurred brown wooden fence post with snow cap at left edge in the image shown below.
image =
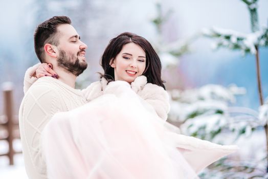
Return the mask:
{"type": "Polygon", "coordinates": [[[7,155],[9,165],[14,165],[14,154],[21,151],[14,151],[13,140],[19,139],[18,116],[14,115],[13,104],[13,85],[11,82],[5,82],[3,88],[4,115],[0,116],[0,140],[8,142],[8,151],[0,153],[0,156],[7,155]]]}

